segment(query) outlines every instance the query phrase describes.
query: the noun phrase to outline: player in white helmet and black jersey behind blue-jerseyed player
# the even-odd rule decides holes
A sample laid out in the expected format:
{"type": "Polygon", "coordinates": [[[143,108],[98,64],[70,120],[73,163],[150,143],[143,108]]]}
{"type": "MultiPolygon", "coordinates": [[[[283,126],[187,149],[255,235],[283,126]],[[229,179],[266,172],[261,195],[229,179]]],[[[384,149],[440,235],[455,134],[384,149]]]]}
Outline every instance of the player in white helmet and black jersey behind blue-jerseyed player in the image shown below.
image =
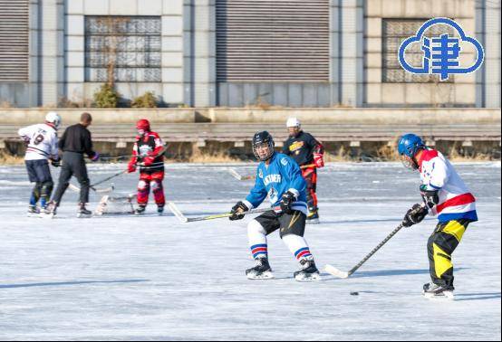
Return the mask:
{"type": "Polygon", "coordinates": [[[302,176],[307,183],[307,223],[319,223],[317,208],[317,168],[324,166],[324,148],[311,134],[302,130],[300,120],[290,118],[286,123],[289,138],[285,141],[283,153],[293,157],[301,167],[302,176]]]}

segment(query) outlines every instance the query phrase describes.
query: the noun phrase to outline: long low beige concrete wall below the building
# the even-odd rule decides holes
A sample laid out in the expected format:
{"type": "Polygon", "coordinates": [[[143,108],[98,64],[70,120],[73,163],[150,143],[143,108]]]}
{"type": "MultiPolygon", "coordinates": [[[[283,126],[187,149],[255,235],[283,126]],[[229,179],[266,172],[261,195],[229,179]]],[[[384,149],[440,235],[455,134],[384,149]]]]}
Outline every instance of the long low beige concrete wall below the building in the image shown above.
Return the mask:
{"type": "MultiPolygon", "coordinates": [[[[498,124],[500,109],[57,109],[63,125],[79,121],[82,111],[92,113],[93,124],[135,123],[279,123],[290,117],[304,124],[434,125],[498,124]],[[202,119],[202,120],[201,120],[202,119]]],[[[47,109],[0,109],[0,125],[43,122],[47,109]]]]}

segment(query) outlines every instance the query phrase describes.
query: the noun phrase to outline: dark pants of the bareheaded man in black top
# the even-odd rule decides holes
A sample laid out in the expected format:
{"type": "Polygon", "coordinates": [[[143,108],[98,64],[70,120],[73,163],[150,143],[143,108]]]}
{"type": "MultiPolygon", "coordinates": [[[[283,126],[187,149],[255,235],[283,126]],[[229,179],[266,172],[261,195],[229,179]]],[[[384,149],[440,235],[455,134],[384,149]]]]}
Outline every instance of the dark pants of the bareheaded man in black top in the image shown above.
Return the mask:
{"type": "Polygon", "coordinates": [[[53,197],[53,201],[58,205],[61,203],[64,192],[70,185],[70,179],[75,176],[81,186],[80,202],[89,202],[89,186],[90,181],[87,176],[87,167],[83,159],[82,153],[64,152],[63,163],[61,165],[61,174],[59,175],[59,183],[53,197]]]}

